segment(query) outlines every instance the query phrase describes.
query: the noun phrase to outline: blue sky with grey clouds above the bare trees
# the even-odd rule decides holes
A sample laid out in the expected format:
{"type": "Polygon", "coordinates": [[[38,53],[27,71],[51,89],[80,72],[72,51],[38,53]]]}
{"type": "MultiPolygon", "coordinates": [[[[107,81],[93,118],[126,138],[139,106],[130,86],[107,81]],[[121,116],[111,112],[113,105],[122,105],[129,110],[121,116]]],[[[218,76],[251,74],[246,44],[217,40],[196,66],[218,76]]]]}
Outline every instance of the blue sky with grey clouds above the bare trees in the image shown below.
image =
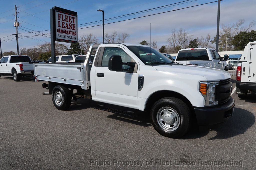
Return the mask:
{"type": "MultiPolygon", "coordinates": [[[[50,29],[50,16],[49,9],[53,6],[66,8],[76,11],[78,13],[78,24],[98,21],[102,19],[102,13],[97,9],[105,11],[105,19],[112,18],[120,15],[130,14],[141,10],[155,8],[158,6],[164,6],[172,3],[177,3],[185,0],[127,0],[127,1],[85,1],[85,0],[11,0],[1,1],[2,10],[0,11],[0,38],[2,41],[2,51],[15,51],[16,41],[14,34],[16,33],[14,23],[14,5],[19,6],[17,10],[19,22],[22,27],[29,31],[41,31],[50,29]],[[24,5],[25,4],[25,5],[24,5]],[[67,4],[67,5],[65,5],[67,4]],[[5,12],[6,11],[6,12],[5,12]],[[43,11],[43,12],[42,12],[43,11]],[[31,16],[31,15],[33,16],[31,16]],[[25,28],[24,28],[25,27],[25,28]],[[11,35],[11,36],[9,36],[11,35]],[[9,37],[6,37],[9,36],[9,37]],[[6,37],[6,38],[3,38],[6,37]],[[8,40],[10,39],[10,40],[8,40]],[[5,40],[5,41],[4,41],[5,40]],[[14,41],[11,41],[14,40],[14,41]]],[[[161,13],[164,11],[184,8],[188,6],[203,4],[212,2],[214,0],[190,0],[184,4],[171,6],[163,9],[158,9],[142,14],[136,14],[133,16],[123,17],[120,19],[114,19],[111,21],[105,21],[105,23],[120,21],[124,19],[130,19],[155,13],[161,13]]],[[[251,0],[224,0],[221,1],[221,19],[220,25],[230,24],[232,25],[238,19],[245,19],[244,26],[255,19],[255,5],[251,5],[251,0]]],[[[156,40],[158,47],[167,44],[167,38],[170,35],[172,29],[183,28],[189,31],[194,38],[206,36],[210,33],[212,38],[216,35],[216,23],[217,23],[217,3],[202,5],[198,7],[173,11],[169,13],[144,17],[140,19],[134,19],[129,21],[118,22],[114,24],[105,25],[105,33],[112,33],[116,30],[118,34],[126,32],[130,34],[130,38],[126,40],[127,43],[140,43],[142,40],[150,41],[150,23],[151,23],[151,40],[156,40]]],[[[89,26],[98,25],[99,23],[89,26]]],[[[86,26],[85,26],[86,27],[86,26]]],[[[88,26],[87,26],[88,27],[88,26]]],[[[82,28],[82,27],[80,27],[82,28]]],[[[19,29],[19,33],[27,31],[19,29]]],[[[255,26],[253,29],[256,29],[255,26]]],[[[49,33],[45,31],[42,33],[49,33]]],[[[102,26],[79,29],[78,37],[83,34],[93,33],[97,36],[99,41],[102,41],[102,26]]],[[[33,47],[44,42],[50,42],[50,38],[44,36],[35,36],[29,38],[22,38],[22,36],[36,35],[34,33],[20,34],[19,48],[33,47]]],[[[67,43],[69,46],[69,44],[67,43]]]]}

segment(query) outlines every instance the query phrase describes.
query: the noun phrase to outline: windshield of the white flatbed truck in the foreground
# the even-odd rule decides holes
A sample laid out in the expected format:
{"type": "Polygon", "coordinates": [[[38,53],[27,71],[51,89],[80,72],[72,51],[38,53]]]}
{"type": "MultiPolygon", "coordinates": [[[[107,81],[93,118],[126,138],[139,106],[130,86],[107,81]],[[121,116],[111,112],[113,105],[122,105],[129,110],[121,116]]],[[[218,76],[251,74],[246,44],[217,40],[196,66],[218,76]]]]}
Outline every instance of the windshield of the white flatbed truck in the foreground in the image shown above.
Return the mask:
{"type": "Polygon", "coordinates": [[[175,64],[164,54],[158,52],[154,48],[144,46],[127,46],[145,65],[154,64],[175,64]]]}

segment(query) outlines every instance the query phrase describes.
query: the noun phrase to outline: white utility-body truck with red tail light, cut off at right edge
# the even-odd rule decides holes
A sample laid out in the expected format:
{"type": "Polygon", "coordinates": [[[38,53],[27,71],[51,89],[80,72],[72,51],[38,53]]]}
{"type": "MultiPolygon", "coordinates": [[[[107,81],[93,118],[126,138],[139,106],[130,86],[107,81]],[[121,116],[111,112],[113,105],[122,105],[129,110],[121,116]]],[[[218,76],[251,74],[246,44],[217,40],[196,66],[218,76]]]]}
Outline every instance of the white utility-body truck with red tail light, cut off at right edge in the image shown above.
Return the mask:
{"type": "Polygon", "coordinates": [[[248,91],[256,93],[256,41],[248,43],[237,66],[236,94],[245,98],[248,91]]]}

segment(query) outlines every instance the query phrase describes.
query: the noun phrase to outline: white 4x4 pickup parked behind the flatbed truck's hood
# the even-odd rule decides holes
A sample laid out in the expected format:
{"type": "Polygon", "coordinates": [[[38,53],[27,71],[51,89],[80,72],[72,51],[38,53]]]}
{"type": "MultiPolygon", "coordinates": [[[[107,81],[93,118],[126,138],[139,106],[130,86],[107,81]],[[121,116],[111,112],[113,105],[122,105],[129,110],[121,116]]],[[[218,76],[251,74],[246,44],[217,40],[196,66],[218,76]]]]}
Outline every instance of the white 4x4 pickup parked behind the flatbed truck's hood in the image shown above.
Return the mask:
{"type": "Polygon", "coordinates": [[[224,58],[212,48],[186,48],[178,52],[175,61],[179,64],[217,68],[228,71],[228,55],[224,58]]]}

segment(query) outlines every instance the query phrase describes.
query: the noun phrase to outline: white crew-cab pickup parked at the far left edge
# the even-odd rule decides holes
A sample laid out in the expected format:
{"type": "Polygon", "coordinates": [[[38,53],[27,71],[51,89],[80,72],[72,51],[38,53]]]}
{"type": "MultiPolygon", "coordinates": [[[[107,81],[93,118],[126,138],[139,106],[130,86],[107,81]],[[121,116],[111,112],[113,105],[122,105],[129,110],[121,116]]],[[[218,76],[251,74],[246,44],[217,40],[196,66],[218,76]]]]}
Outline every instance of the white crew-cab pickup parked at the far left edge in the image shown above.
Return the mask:
{"type": "Polygon", "coordinates": [[[21,76],[33,76],[34,63],[39,62],[31,62],[27,55],[4,56],[0,60],[0,76],[13,76],[14,81],[19,81],[21,76]]]}

